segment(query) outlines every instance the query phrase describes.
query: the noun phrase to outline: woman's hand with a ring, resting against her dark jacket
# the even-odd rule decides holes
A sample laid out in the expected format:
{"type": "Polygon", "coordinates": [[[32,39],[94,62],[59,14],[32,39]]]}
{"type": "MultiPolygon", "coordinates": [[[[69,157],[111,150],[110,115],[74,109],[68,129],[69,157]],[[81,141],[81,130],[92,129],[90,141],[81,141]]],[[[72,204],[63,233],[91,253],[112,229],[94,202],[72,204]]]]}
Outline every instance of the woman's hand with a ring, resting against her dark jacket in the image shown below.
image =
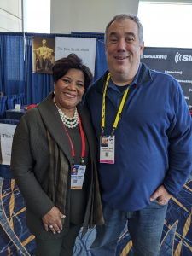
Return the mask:
{"type": "Polygon", "coordinates": [[[56,232],[60,233],[62,230],[62,218],[66,218],[66,216],[57,207],[53,207],[42,218],[44,229],[46,231],[50,229],[54,234],[56,232]]]}

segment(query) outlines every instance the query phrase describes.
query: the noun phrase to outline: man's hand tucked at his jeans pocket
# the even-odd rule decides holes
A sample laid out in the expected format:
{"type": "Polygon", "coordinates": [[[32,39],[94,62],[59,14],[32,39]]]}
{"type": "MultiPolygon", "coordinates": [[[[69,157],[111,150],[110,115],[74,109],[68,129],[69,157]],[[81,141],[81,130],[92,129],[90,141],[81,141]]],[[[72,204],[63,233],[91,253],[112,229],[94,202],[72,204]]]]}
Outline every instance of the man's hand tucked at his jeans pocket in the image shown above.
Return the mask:
{"type": "Polygon", "coordinates": [[[165,187],[161,185],[158,189],[154,191],[154,194],[151,195],[150,201],[157,200],[160,205],[166,205],[171,197],[172,195],[170,195],[166,191],[165,187]]]}

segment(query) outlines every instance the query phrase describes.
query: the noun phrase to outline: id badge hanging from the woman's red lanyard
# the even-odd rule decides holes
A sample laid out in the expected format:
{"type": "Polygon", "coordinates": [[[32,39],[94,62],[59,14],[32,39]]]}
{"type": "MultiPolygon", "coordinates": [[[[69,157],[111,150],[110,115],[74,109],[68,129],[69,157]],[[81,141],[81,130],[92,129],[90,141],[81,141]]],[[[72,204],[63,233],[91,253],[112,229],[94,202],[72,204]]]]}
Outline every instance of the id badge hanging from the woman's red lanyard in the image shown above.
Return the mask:
{"type": "Polygon", "coordinates": [[[74,165],[71,169],[71,189],[82,189],[86,166],[74,165]]]}

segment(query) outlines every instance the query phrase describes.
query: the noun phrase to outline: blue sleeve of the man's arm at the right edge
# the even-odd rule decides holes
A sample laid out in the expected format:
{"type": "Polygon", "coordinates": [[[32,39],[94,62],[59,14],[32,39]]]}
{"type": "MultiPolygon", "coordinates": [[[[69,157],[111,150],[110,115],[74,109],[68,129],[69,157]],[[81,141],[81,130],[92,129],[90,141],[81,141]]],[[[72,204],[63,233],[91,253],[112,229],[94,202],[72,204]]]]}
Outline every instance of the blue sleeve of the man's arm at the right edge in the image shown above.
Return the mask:
{"type": "Polygon", "coordinates": [[[167,133],[169,169],[164,181],[165,188],[171,195],[182,189],[192,171],[192,122],[183,90],[178,83],[177,91],[173,94],[173,107],[174,118],[167,133]]]}

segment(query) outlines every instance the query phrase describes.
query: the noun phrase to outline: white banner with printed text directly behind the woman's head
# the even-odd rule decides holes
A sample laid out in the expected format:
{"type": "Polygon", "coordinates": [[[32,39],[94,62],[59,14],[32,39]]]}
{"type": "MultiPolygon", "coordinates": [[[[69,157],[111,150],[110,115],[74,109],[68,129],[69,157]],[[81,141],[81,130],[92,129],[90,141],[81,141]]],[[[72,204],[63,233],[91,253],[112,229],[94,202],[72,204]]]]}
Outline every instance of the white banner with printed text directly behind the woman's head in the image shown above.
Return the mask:
{"type": "Polygon", "coordinates": [[[55,38],[55,61],[67,57],[70,53],[79,56],[84,65],[95,73],[96,38],[55,38]]]}

